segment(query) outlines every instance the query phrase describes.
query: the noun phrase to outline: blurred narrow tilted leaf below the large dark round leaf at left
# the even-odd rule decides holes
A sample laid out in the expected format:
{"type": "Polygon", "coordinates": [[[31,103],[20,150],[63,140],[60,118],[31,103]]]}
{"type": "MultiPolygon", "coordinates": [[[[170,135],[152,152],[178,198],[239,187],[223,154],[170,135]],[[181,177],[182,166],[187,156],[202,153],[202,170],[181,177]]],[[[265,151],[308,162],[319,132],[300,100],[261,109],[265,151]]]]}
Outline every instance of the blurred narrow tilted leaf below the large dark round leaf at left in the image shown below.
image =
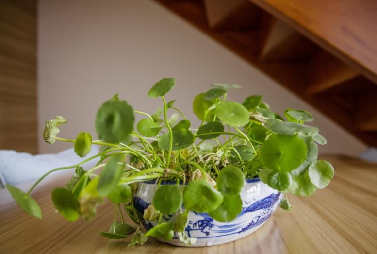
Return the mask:
{"type": "Polygon", "coordinates": [[[106,163],[105,168],[101,171],[98,180],[97,191],[102,196],[107,196],[115,189],[120,177],[123,174],[123,165],[118,164],[123,160],[121,154],[113,155],[106,163]]]}

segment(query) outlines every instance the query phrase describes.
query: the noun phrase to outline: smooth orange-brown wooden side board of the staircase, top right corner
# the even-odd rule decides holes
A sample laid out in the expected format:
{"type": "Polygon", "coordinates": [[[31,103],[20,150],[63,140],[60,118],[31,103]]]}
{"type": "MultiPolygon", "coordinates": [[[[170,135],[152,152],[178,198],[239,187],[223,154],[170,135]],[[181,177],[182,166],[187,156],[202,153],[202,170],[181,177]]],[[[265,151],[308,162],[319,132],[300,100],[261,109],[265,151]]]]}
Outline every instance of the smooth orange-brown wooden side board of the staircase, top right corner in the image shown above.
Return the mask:
{"type": "Polygon", "coordinates": [[[377,83],[377,1],[250,1],[377,83]]]}

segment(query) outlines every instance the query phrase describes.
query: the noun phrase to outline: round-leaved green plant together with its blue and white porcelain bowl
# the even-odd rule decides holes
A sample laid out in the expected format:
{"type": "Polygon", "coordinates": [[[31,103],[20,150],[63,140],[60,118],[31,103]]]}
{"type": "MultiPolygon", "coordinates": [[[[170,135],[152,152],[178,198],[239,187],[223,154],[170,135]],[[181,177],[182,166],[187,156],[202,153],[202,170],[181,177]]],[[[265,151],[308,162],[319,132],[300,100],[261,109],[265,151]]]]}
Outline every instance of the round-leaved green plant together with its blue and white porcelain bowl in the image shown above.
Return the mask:
{"type": "Polygon", "coordinates": [[[7,185],[16,203],[42,218],[29,194],[50,173],[75,168],[66,186],[52,191],[52,202],[66,220],[91,220],[107,198],[114,205],[114,222],[100,232],[104,237],[123,239],[133,233],[130,245],[155,237],[175,245],[205,246],[250,234],[278,206],[290,210],[288,193],[310,196],[329,184],[334,169],[317,160],[316,143],[323,145],[326,139],[318,128],[304,124],[313,120],[311,113],[287,109],[285,121],[261,95],[242,104],[229,102],[228,91],[239,86],[212,84],[194,99],[194,113],[202,121],[194,129],[174,101],[165,101],[175,84],[175,79],[164,78],[152,86],[148,97],[161,98],[164,105],[153,115],[133,110],[118,95],[104,102],[95,122],[100,140],[93,141],[87,132],[75,139],[59,137],[58,126],[66,120],[58,116],[47,121],[43,136],[49,144],[71,142],[80,157],[93,144],[101,150],[79,164],[50,170],[27,193],[7,185]],[[168,111],[177,113],[169,118],[168,111]],[[137,132],[134,114],[145,117],[137,132]],[[93,159],[98,160],[94,168],[82,169],[93,159]],[[124,222],[124,212],[137,228],[124,222]]]}

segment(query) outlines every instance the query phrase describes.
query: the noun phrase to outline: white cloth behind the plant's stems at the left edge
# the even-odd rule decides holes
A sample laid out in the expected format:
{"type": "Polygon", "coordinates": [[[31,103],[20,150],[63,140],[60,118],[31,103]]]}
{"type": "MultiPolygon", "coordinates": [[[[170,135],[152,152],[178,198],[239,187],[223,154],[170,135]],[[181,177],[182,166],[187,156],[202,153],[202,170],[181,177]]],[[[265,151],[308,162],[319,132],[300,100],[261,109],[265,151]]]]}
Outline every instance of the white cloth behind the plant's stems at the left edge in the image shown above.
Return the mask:
{"type": "MultiPolygon", "coordinates": [[[[87,159],[99,151],[98,146],[92,146],[92,150],[85,158],[80,158],[73,151],[73,148],[58,153],[32,155],[14,150],[0,150],[0,181],[5,184],[17,185],[20,183],[33,181],[41,177],[51,169],[75,165],[87,159]]],[[[84,169],[93,168],[99,158],[95,158],[82,167],[84,169]]],[[[53,172],[51,175],[59,175],[63,171],[75,169],[65,169],[53,172]]]]}

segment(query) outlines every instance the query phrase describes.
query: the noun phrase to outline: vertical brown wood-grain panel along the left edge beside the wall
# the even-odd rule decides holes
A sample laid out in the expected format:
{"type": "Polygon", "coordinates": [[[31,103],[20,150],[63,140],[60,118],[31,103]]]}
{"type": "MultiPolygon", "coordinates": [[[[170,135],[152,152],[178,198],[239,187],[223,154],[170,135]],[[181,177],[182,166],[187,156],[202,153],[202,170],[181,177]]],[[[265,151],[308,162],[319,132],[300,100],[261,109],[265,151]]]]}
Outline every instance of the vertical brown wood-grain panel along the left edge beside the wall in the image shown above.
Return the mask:
{"type": "Polygon", "coordinates": [[[36,5],[0,1],[0,149],[37,152],[36,5]]]}

